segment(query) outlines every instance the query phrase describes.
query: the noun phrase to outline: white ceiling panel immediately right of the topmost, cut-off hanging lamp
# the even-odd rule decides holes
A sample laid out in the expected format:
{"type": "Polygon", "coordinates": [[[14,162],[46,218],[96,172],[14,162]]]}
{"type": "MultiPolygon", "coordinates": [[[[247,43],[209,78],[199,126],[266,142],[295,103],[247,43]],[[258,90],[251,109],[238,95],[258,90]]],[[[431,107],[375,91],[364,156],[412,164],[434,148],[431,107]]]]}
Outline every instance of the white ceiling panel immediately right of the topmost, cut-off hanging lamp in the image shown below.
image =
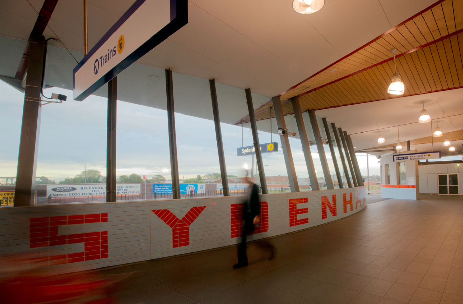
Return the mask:
{"type": "Polygon", "coordinates": [[[305,18],[343,56],[391,28],[378,1],[339,0],[305,18]]]}

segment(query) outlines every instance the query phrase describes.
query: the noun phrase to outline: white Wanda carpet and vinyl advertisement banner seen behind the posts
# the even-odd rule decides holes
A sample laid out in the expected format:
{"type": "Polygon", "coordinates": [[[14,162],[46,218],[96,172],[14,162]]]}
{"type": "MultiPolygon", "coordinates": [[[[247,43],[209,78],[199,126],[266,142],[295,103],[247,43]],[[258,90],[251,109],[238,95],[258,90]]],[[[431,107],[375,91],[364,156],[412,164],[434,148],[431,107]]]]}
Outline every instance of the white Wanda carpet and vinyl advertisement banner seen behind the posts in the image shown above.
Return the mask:
{"type": "MultiPolygon", "coordinates": [[[[116,194],[140,194],[140,184],[117,184],[116,194]]],[[[106,195],[106,184],[47,185],[47,197],[76,197],[106,195]]]]}

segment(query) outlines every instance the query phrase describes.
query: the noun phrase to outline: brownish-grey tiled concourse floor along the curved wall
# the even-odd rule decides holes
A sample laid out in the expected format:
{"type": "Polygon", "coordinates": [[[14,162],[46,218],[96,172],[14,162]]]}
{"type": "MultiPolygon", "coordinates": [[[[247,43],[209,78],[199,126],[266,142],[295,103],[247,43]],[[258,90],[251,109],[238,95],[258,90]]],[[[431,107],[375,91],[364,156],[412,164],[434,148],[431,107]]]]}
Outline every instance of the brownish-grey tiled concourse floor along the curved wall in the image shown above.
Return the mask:
{"type": "Polygon", "coordinates": [[[123,304],[463,304],[463,197],[421,197],[273,238],[275,260],[250,245],[240,269],[228,247],[102,273],[134,272],[123,304]]]}

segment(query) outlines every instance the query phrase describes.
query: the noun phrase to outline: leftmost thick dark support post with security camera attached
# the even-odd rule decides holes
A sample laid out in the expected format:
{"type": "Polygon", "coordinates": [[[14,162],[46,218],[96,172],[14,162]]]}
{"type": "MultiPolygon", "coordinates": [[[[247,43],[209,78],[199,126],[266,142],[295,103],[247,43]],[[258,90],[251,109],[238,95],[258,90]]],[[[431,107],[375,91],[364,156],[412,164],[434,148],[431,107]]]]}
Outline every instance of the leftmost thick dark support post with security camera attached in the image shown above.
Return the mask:
{"type": "Polygon", "coordinates": [[[40,92],[44,69],[45,38],[32,35],[29,38],[29,60],[24,94],[23,120],[19,139],[18,170],[14,206],[34,204],[35,172],[37,168],[38,137],[40,133],[40,92]]]}

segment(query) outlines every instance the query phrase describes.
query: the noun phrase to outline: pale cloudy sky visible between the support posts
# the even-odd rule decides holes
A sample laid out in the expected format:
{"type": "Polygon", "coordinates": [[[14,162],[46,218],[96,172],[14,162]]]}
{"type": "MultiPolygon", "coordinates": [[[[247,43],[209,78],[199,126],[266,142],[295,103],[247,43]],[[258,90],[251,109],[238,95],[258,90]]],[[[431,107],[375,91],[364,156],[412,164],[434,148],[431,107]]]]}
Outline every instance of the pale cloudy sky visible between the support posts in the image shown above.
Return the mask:
{"type": "MultiPolygon", "coordinates": [[[[106,98],[91,95],[84,101],[72,100],[72,91],[50,88],[51,93],[67,95],[62,104],[42,107],[36,176],[56,182],[74,177],[84,167],[106,175],[106,98]]],[[[175,92],[174,92],[175,95],[175,92]]],[[[0,176],[16,176],[24,94],[0,81],[0,176]]],[[[212,105],[211,105],[212,109],[212,105]]],[[[219,109],[220,110],[220,109],[219,109]]],[[[220,172],[215,129],[212,120],[175,114],[179,175],[181,178],[220,172]]],[[[250,129],[221,123],[227,174],[243,176],[244,162],[251,156],[237,156],[237,148],[251,146],[250,129]]],[[[278,134],[259,131],[260,143],[278,143],[278,152],[263,154],[266,176],[287,175],[278,134]]],[[[298,177],[308,177],[300,140],[290,138],[298,177]]],[[[322,175],[316,146],[311,147],[314,166],[322,175]]],[[[170,179],[167,111],[124,101],[117,104],[117,176],[136,173],[152,177],[161,174],[170,179]],[[164,173],[163,173],[164,171],[164,173]]],[[[328,146],[325,154],[334,174],[328,146]]],[[[360,170],[367,175],[366,154],[357,154],[360,170]]],[[[341,163],[339,162],[339,166],[341,163]]],[[[342,168],[341,168],[342,172],[342,168]]],[[[379,174],[379,163],[369,156],[369,174],[379,174]]]]}

